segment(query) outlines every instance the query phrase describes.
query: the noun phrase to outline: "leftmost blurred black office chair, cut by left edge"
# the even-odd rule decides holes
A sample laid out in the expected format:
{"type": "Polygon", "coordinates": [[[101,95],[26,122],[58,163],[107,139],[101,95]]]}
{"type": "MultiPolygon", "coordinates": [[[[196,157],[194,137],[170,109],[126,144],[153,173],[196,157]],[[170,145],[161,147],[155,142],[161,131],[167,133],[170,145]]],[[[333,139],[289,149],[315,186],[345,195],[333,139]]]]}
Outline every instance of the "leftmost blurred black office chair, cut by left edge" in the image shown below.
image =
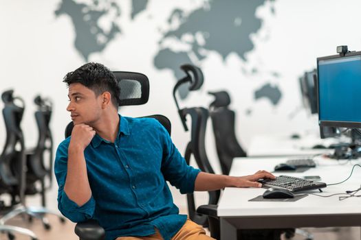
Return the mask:
{"type": "MultiPolygon", "coordinates": [[[[21,97],[14,97],[13,93],[13,90],[9,90],[1,95],[5,104],[3,118],[6,126],[6,143],[0,156],[0,193],[11,195],[11,207],[15,204],[21,204],[21,206],[25,204],[25,147],[20,127],[25,104],[21,97]]],[[[5,225],[2,218],[0,231],[8,232],[9,239],[14,239],[14,232],[28,235],[32,240],[37,239],[31,230],[5,225]]]]}

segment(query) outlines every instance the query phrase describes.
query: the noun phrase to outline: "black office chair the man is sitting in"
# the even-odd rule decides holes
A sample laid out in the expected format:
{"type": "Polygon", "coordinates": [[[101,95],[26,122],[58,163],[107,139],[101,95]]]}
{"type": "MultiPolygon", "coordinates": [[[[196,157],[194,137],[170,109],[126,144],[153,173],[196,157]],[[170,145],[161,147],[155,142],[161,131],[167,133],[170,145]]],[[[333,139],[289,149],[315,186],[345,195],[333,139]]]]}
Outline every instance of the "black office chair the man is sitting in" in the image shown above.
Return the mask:
{"type": "MultiPolygon", "coordinates": [[[[120,86],[119,106],[146,104],[149,99],[149,80],[142,73],[113,72],[120,86]]],[[[160,121],[171,135],[171,121],[163,115],[150,115],[160,121]]],[[[70,122],[65,129],[65,138],[72,134],[74,125],[70,122]]],[[[99,226],[96,220],[89,220],[76,224],[75,233],[80,240],[102,240],[105,238],[105,230],[99,226]]]]}

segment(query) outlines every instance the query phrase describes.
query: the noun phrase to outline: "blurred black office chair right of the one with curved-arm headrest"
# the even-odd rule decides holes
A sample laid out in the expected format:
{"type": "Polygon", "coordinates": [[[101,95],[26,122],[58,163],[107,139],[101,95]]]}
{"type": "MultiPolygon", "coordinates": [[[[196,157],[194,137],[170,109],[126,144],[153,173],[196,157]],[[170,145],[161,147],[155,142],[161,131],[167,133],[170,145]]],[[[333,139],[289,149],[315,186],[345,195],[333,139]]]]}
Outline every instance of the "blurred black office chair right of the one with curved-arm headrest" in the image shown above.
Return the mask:
{"type": "Polygon", "coordinates": [[[210,119],[212,119],[213,133],[217,155],[221,164],[222,173],[228,175],[233,158],[245,157],[247,154],[239,145],[234,132],[235,114],[230,110],[230,95],[226,91],[209,92],[215,100],[209,106],[210,119]]]}

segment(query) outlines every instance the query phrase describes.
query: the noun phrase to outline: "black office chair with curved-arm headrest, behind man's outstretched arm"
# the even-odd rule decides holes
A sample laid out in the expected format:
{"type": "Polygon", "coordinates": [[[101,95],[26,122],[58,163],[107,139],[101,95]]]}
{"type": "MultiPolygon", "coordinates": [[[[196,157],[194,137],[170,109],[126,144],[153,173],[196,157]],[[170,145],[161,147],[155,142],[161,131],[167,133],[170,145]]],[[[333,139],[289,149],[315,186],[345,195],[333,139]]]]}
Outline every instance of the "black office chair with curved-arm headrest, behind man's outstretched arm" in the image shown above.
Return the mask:
{"type": "MultiPolygon", "coordinates": [[[[209,163],[206,154],[206,147],[205,147],[205,135],[206,135],[207,120],[208,120],[208,110],[206,110],[206,108],[201,108],[201,107],[179,109],[177,98],[175,97],[175,93],[177,92],[177,89],[179,88],[179,86],[182,86],[182,84],[189,84],[188,86],[189,91],[198,90],[203,84],[203,73],[199,68],[190,64],[182,65],[181,69],[186,73],[186,77],[182,78],[177,82],[177,84],[175,84],[175,87],[173,88],[173,97],[175,100],[175,105],[177,106],[179,117],[182,120],[184,130],[188,131],[188,127],[186,125],[186,116],[190,115],[192,120],[190,141],[186,147],[184,158],[186,159],[186,162],[189,165],[190,157],[193,155],[201,171],[204,171],[206,173],[215,173],[215,171],[213,171],[212,166],[209,163]]],[[[217,204],[220,193],[221,191],[209,191],[208,204],[217,204]]],[[[187,194],[187,204],[188,204],[189,218],[192,221],[195,221],[197,224],[200,224],[204,227],[208,227],[207,216],[201,215],[196,211],[195,198],[193,193],[187,194]]]]}

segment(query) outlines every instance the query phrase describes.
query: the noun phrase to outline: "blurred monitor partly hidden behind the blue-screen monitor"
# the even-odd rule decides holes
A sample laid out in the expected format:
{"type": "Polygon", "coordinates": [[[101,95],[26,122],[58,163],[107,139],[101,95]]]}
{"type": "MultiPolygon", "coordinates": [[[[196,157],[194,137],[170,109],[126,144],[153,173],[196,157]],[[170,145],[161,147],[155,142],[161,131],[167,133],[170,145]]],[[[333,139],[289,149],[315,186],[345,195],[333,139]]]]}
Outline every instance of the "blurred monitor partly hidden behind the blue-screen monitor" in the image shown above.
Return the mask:
{"type": "Polygon", "coordinates": [[[305,72],[300,81],[300,91],[303,97],[303,106],[311,111],[311,114],[318,112],[317,109],[317,93],[314,82],[314,75],[317,74],[316,69],[305,72]]]}

